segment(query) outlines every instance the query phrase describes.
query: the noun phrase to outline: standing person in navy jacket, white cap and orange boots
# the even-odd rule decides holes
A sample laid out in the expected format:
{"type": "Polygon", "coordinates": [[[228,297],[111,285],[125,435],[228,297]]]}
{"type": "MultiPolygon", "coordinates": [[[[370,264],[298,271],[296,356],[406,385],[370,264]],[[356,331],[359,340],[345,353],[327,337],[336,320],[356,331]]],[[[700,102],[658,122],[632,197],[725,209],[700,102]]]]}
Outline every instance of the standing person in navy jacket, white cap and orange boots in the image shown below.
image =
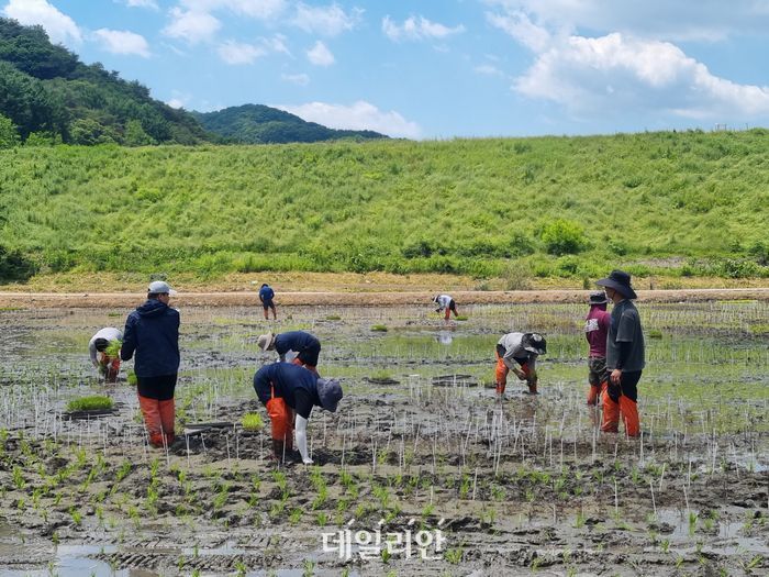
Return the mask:
{"type": "Polygon", "coordinates": [[[125,320],[120,356],[129,360],[134,352],[138,406],[149,443],[155,447],[174,442],[174,390],[179,370],[179,311],[168,306],[176,295],[167,282],[155,280],[147,300],[125,320]]]}

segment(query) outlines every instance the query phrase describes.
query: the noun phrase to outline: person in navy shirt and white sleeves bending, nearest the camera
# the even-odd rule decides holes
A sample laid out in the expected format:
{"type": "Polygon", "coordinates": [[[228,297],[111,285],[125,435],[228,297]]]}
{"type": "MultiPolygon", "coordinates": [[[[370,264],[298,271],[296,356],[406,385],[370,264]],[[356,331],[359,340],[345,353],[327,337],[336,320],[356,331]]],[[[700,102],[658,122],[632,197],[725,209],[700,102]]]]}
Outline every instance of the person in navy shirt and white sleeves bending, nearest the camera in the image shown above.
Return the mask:
{"type": "Polygon", "coordinates": [[[275,458],[281,462],[285,454],[293,451],[296,424],[297,446],[302,463],[311,465],[307,442],[310,413],[313,407],[336,411],[342,399],[339,382],[319,378],[315,373],[290,363],[272,363],[256,371],[254,390],[270,418],[275,458]]]}

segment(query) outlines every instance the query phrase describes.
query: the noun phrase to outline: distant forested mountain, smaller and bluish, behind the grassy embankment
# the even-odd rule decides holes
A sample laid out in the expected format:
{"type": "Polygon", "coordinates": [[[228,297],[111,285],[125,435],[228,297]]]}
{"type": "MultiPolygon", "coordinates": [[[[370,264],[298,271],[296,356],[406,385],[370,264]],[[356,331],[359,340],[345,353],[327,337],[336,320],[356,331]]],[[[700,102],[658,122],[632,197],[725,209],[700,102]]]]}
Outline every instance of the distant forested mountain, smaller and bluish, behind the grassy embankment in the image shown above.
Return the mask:
{"type": "Polygon", "coordinates": [[[192,113],[203,127],[227,142],[242,144],[280,144],[321,142],[339,138],[387,138],[374,131],[334,130],[307,122],[294,114],[263,104],[231,107],[218,112],[192,113]]]}

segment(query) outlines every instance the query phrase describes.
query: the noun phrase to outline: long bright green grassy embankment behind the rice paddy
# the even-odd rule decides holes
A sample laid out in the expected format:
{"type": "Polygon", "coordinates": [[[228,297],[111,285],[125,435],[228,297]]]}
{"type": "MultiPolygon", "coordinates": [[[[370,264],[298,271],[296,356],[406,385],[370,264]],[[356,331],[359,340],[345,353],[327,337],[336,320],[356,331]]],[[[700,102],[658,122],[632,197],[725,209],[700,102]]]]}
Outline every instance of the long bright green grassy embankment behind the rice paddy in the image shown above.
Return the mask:
{"type": "Polygon", "coordinates": [[[753,130],[14,147],[0,151],[0,264],[5,278],[24,264],[769,276],[768,144],[753,130]]]}

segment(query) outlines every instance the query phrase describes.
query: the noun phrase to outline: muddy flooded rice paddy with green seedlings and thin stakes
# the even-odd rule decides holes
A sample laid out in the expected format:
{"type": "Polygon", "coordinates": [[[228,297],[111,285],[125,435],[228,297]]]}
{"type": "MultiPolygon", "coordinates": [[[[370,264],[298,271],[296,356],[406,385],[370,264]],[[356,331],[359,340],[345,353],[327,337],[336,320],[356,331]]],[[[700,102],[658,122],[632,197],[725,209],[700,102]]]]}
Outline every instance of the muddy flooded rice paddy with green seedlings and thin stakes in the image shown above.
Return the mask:
{"type": "Polygon", "coordinates": [[[146,445],[131,364],[103,386],[88,362],[90,336],[127,312],[0,312],[0,576],[769,567],[767,303],[644,304],[642,441],[599,434],[583,407],[582,307],[477,306],[449,324],[428,307],[282,308],[277,323],[183,309],[179,429],[225,424],[171,452],[146,445]],[[268,432],[239,419],[268,421],[256,337],[296,329],[321,339],[345,399],[312,415],[316,466],[276,469],[268,432]],[[547,334],[543,392],[511,380],[497,403],[493,345],[521,329],[547,334]],[[94,392],[116,412],[69,420],[67,401],[94,392]],[[352,539],[341,556],[330,543],[345,530],[411,546],[352,539]],[[419,551],[419,531],[441,531],[441,551],[419,551]]]}

